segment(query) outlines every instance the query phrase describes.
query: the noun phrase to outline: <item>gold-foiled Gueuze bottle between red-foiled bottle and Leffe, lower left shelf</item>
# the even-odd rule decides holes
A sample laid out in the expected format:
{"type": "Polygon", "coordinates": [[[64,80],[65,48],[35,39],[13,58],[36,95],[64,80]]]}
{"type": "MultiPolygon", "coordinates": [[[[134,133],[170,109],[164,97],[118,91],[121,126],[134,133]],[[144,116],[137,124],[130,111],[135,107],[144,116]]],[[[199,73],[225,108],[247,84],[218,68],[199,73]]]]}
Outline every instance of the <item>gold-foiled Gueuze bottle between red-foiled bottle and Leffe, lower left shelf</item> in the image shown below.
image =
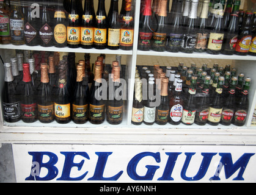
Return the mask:
{"type": "Polygon", "coordinates": [[[49,85],[48,65],[41,64],[41,83],[42,90],[38,94],[38,120],[43,123],[49,123],[54,120],[54,102],[53,91],[49,85]]]}

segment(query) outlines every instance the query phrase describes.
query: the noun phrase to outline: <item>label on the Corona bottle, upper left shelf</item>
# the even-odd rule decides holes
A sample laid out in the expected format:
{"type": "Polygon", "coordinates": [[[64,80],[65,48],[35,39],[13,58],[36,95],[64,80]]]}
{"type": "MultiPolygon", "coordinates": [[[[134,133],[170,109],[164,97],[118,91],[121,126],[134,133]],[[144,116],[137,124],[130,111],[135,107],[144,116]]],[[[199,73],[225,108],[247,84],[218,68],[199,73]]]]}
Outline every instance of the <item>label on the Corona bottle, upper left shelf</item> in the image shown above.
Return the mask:
{"type": "Polygon", "coordinates": [[[10,36],[13,41],[24,40],[24,19],[10,19],[10,36]]]}

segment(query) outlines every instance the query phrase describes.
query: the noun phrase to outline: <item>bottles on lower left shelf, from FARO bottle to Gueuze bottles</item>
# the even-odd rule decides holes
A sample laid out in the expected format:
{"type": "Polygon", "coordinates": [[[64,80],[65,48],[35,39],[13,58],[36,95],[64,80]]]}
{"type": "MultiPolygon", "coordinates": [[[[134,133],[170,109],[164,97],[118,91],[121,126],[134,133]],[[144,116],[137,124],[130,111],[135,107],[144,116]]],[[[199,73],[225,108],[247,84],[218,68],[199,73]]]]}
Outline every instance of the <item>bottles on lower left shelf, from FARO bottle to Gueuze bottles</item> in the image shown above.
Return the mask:
{"type": "MultiPolygon", "coordinates": [[[[77,124],[84,124],[87,121],[101,124],[106,118],[110,124],[122,122],[123,99],[118,99],[119,95],[114,95],[112,99],[109,96],[100,98],[103,95],[102,88],[107,88],[101,82],[108,74],[103,56],[97,58],[94,74],[90,71],[89,55],[86,54],[85,60],[79,60],[75,65],[74,53],[64,55],[62,60],[57,54],[49,55],[48,62],[40,64],[40,73],[35,74],[34,58],[24,62],[20,59],[21,54],[17,55],[18,59],[10,59],[11,63],[4,64],[2,105],[5,121],[17,122],[21,119],[23,122],[38,120],[49,123],[55,120],[65,124],[73,120],[77,124]],[[54,63],[57,63],[55,67],[54,63]],[[21,67],[23,69],[19,71],[21,67]],[[56,67],[57,75],[54,71],[56,67]],[[40,79],[38,86],[37,77],[40,79]]],[[[117,61],[112,63],[111,72],[112,77],[108,83],[113,82],[109,85],[114,87],[114,94],[119,93],[122,71],[118,55],[117,61]]]]}

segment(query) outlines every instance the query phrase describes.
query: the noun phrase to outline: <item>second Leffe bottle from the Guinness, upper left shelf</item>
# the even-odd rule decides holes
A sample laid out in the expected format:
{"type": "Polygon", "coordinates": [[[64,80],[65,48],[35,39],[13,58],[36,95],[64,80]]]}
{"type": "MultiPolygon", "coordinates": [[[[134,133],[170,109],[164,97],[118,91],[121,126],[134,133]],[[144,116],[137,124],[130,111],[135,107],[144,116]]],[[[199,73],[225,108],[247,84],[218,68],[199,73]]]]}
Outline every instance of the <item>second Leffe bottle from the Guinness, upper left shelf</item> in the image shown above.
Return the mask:
{"type": "Polygon", "coordinates": [[[95,18],[93,16],[94,10],[91,7],[90,0],[84,1],[84,13],[81,23],[81,47],[84,49],[90,49],[93,46],[95,18]]]}

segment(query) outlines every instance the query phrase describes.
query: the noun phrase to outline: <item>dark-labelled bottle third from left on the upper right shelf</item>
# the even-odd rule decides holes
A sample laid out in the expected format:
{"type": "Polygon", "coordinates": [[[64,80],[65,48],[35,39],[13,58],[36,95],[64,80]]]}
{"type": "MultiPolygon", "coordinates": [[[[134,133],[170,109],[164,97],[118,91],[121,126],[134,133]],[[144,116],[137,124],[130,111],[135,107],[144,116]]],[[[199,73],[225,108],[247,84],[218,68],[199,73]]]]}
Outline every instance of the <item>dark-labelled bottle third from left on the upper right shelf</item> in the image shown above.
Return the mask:
{"type": "Polygon", "coordinates": [[[178,0],[177,5],[172,4],[175,7],[174,12],[171,13],[170,18],[174,19],[173,23],[168,26],[169,34],[167,34],[166,49],[169,52],[180,51],[182,33],[182,1],[178,0]]]}

